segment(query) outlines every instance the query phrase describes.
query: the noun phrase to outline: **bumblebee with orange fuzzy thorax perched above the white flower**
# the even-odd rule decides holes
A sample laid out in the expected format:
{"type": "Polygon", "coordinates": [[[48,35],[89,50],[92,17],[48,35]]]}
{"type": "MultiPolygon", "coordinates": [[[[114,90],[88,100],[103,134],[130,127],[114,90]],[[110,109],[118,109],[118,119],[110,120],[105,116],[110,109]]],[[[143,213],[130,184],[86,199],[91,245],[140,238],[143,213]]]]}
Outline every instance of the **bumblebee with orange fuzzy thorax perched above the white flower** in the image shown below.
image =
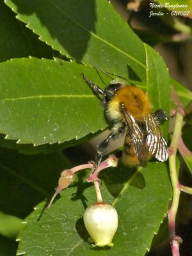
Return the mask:
{"type": "Polygon", "coordinates": [[[102,90],[84,74],[82,76],[88,86],[102,96],[106,117],[113,124],[109,136],[97,148],[93,172],[99,166],[109,142],[121,134],[125,136],[122,156],[125,164],[145,165],[152,157],[161,162],[168,159],[167,143],[159,128],[168,118],[163,109],[152,113],[147,93],[137,86],[127,86],[117,81],[102,90]]]}

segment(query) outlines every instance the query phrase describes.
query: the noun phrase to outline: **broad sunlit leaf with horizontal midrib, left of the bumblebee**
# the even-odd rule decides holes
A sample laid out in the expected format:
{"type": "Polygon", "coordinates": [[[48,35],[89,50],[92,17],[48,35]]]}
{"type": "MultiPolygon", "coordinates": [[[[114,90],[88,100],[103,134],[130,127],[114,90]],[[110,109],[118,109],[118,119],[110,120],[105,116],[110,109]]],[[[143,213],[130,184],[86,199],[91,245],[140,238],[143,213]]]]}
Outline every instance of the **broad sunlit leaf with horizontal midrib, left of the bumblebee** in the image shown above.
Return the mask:
{"type": "Polygon", "coordinates": [[[103,109],[82,72],[100,81],[95,70],[67,61],[31,58],[1,64],[0,132],[18,143],[40,145],[104,129],[103,109]]]}

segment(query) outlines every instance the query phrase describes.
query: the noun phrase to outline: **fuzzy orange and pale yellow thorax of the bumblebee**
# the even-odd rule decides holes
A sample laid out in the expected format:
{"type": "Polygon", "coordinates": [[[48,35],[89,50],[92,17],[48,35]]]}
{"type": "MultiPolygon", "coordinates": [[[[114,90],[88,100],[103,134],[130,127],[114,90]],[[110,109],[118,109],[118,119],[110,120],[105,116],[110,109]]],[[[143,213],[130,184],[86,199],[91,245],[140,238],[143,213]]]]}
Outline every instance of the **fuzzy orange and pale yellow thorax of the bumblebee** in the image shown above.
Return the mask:
{"type": "Polygon", "coordinates": [[[142,120],[150,113],[150,100],[143,90],[136,86],[124,86],[116,92],[108,104],[108,116],[111,120],[124,119],[120,113],[120,103],[124,103],[127,112],[136,120],[142,120]]]}

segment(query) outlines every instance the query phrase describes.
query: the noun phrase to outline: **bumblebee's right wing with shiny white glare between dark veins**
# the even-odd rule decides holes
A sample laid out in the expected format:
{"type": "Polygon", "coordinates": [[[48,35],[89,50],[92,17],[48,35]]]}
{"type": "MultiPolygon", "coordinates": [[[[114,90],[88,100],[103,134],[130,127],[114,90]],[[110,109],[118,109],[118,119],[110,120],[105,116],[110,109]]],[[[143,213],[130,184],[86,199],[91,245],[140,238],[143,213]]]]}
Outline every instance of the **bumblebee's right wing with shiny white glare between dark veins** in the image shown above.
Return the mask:
{"type": "Polygon", "coordinates": [[[164,140],[159,125],[157,124],[154,116],[149,114],[145,120],[147,129],[147,145],[151,154],[156,157],[157,160],[164,162],[168,159],[168,148],[166,141],[164,140]]]}

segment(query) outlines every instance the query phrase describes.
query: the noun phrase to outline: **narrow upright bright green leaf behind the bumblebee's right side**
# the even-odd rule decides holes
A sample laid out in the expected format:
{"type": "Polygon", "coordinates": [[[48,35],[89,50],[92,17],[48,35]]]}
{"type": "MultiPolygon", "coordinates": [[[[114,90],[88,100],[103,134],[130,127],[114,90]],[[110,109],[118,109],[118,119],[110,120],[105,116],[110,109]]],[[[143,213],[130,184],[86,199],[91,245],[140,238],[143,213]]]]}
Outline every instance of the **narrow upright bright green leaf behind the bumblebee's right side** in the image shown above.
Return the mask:
{"type": "MultiPolygon", "coordinates": [[[[167,115],[170,113],[170,77],[168,68],[163,58],[147,44],[146,62],[147,62],[147,92],[149,95],[156,95],[150,100],[154,110],[164,109],[167,115]]],[[[164,136],[168,136],[168,122],[163,125],[164,136]]]]}

